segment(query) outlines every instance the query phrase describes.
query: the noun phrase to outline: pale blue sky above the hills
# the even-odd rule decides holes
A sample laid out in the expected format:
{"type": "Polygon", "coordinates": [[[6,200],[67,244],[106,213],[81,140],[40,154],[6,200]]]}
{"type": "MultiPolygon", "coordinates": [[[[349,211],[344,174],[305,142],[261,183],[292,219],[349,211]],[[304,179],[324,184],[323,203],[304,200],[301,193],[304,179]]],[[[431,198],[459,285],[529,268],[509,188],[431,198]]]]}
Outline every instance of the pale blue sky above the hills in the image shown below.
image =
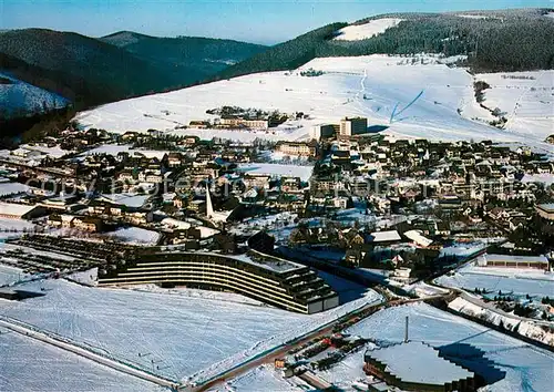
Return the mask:
{"type": "Polygon", "coordinates": [[[0,0],[0,29],[101,37],[120,30],[277,43],[337,21],[397,11],[554,7],[552,0],[0,0]]]}

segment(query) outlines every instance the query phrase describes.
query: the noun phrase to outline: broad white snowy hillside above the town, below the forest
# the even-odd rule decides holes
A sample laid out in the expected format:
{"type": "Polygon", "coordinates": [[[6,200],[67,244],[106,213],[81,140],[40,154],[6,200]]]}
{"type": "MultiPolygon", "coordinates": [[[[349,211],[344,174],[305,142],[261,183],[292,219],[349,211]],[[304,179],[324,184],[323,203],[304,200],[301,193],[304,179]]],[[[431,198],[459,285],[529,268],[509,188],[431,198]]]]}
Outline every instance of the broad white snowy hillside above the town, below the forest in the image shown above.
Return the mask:
{"type": "MultiPolygon", "coordinates": [[[[543,143],[544,128],[537,131],[535,136],[529,133],[534,132],[532,128],[520,134],[520,131],[497,130],[482,121],[470,120],[491,116],[489,111],[475,102],[474,78],[463,69],[439,64],[435,59],[429,58],[421,64],[421,59],[423,56],[414,65],[407,61],[410,59],[386,55],[315,59],[293,72],[252,74],[111,103],[82,112],[76,120],[85,127],[120,133],[157,128],[175,134],[195,134],[203,138],[219,136],[244,141],[253,141],[256,137],[294,141],[308,138],[316,124],[337,123],[343,116],[367,116],[370,125],[389,126],[386,133],[393,135],[432,140],[490,138],[522,142],[542,149],[548,147],[543,143]],[[317,78],[300,75],[301,70],[310,68],[324,71],[325,74],[317,78]],[[421,91],[421,97],[394,116],[390,123],[394,106],[398,104],[397,113],[400,112],[421,91]],[[206,114],[206,110],[223,105],[279,110],[287,113],[304,112],[310,118],[290,125],[284,124],[267,133],[175,130],[176,125],[188,125],[192,120],[214,118],[206,114]],[[163,111],[170,111],[170,114],[162,115],[163,111]]],[[[544,75],[535,81],[536,86],[550,85],[548,73],[544,75]]],[[[517,91],[501,89],[501,93],[507,94],[517,91]]],[[[494,101],[493,92],[494,87],[486,91],[491,94],[488,95],[491,102],[494,101]]],[[[532,104],[535,95],[525,95],[525,102],[527,100],[532,104]]],[[[538,105],[543,104],[537,101],[538,105]]],[[[545,114],[544,111],[541,113],[545,114]]],[[[533,124],[546,126],[548,120],[536,120],[533,124]]]]}

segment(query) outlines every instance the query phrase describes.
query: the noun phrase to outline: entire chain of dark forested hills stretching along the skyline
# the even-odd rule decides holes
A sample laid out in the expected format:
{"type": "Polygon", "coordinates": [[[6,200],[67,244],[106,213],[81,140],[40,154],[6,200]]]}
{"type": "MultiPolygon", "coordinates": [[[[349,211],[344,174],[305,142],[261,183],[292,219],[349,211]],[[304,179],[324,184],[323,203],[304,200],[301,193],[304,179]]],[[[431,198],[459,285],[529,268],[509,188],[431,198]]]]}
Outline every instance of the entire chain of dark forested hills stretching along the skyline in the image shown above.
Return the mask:
{"type": "MultiPolygon", "coordinates": [[[[316,58],[425,52],[464,58],[473,72],[553,69],[552,16],[550,8],[391,13],[328,24],[274,47],[132,31],[94,39],[45,29],[9,30],[0,32],[0,74],[55,93],[81,111],[209,81],[297,69],[316,58]],[[343,28],[386,18],[401,21],[367,38],[336,40],[343,28]]],[[[0,111],[0,120],[1,113],[7,112],[0,111]]]]}

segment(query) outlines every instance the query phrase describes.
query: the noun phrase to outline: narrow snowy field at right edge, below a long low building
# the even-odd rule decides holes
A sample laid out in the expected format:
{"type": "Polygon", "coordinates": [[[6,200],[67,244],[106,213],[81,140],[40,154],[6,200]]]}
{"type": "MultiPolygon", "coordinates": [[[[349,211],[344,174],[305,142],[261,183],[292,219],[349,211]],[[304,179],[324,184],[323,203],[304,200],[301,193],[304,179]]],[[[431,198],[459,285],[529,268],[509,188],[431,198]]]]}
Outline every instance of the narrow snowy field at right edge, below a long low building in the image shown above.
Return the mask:
{"type": "Polygon", "coordinates": [[[552,297],[554,295],[554,275],[537,270],[510,270],[500,268],[465,266],[452,276],[444,275],[437,279],[445,287],[475,288],[488,291],[502,290],[503,293],[552,297]]]}

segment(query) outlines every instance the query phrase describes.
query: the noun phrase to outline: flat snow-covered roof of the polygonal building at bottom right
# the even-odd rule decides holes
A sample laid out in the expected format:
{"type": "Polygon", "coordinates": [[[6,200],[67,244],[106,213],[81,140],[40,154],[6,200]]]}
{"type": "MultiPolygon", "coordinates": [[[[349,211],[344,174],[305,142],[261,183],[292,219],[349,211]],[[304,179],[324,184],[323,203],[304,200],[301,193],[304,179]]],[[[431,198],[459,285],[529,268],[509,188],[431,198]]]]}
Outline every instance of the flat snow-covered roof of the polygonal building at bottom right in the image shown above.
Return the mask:
{"type": "Polygon", "coordinates": [[[366,352],[387,365],[387,371],[404,382],[443,385],[474,374],[439,357],[439,351],[423,342],[408,342],[366,352]]]}

